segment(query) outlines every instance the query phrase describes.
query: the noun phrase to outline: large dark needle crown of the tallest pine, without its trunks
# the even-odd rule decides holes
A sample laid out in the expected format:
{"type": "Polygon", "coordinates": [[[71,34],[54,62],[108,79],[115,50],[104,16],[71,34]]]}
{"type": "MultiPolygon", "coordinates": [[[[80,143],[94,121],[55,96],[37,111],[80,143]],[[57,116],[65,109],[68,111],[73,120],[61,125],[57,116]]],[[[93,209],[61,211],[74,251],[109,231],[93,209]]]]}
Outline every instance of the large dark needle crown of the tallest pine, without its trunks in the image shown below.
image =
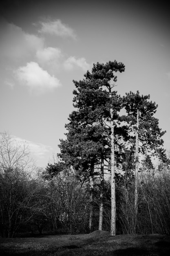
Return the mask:
{"type": "MultiPolygon", "coordinates": [[[[59,156],[66,164],[73,165],[80,171],[87,171],[91,165],[98,164],[101,150],[104,148],[104,158],[110,152],[110,104],[114,109],[114,119],[119,115],[122,99],[116,91],[109,98],[110,80],[117,81],[113,72],[123,72],[123,63],[109,61],[106,64],[94,64],[92,72],[84,75],[82,81],[73,81],[76,90],[73,106],[76,108],[69,115],[66,124],[67,139],[60,141],[59,156]]],[[[125,127],[116,127],[117,135],[126,137],[125,127]]]]}

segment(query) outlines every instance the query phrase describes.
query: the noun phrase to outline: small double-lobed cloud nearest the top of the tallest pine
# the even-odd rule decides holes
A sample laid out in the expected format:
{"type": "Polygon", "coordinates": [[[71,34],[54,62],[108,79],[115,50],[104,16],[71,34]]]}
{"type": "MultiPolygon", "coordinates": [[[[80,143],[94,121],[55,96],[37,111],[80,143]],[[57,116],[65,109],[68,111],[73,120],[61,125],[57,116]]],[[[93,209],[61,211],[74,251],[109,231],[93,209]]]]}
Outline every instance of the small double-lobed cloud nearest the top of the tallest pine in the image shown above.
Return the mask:
{"type": "Polygon", "coordinates": [[[70,56],[65,62],[64,62],[64,68],[66,70],[73,70],[73,68],[77,66],[82,68],[85,72],[90,68],[90,64],[86,62],[85,58],[75,58],[74,56],[70,56]]]}

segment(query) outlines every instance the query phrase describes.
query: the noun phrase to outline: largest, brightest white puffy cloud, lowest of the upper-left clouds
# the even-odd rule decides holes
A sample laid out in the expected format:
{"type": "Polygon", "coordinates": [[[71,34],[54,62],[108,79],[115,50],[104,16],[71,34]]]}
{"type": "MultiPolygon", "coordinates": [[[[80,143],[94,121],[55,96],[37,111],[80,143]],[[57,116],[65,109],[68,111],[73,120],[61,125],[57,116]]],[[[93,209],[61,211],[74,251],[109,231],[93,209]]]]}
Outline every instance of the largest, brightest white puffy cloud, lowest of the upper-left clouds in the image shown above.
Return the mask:
{"type": "Polygon", "coordinates": [[[60,86],[60,81],[55,76],[51,76],[46,70],[43,70],[38,63],[29,62],[24,67],[19,67],[15,71],[19,81],[26,85],[30,90],[45,92],[60,86]]]}

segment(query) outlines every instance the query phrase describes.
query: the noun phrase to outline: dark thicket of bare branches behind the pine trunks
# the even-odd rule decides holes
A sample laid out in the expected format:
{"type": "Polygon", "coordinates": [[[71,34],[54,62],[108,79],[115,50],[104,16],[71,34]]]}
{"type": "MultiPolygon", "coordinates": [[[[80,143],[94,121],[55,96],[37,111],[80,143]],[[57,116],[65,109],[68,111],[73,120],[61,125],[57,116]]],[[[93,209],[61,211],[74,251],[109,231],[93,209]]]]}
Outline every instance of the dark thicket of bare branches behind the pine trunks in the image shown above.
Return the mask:
{"type": "MultiPolygon", "coordinates": [[[[99,171],[100,168],[98,168],[99,171]]],[[[49,164],[36,177],[21,169],[0,172],[0,236],[13,237],[43,232],[89,232],[91,205],[90,180],[84,180],[73,168],[49,164]],[[53,166],[53,171],[50,172],[53,166]],[[61,166],[60,166],[61,167],[61,166]],[[55,170],[54,170],[55,169],[55,170]],[[56,172],[57,170],[57,172],[56,172]]],[[[97,173],[97,169],[96,169],[97,173]]],[[[110,174],[104,175],[102,199],[103,230],[110,231],[110,174]]],[[[116,175],[116,234],[134,233],[134,174],[116,175]]],[[[94,177],[93,221],[99,226],[100,175],[94,177]]],[[[170,234],[170,171],[142,166],[139,173],[137,234],[170,234]]]]}

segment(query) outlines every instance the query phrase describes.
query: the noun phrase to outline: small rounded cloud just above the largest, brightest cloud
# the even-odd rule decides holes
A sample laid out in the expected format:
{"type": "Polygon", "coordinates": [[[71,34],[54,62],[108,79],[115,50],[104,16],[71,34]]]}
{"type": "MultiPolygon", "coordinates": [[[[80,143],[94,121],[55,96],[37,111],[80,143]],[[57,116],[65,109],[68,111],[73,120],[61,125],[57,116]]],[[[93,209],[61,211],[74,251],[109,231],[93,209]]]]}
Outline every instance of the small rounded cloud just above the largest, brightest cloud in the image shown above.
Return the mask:
{"type": "Polygon", "coordinates": [[[61,57],[61,50],[59,48],[53,47],[39,49],[36,52],[36,57],[38,59],[38,62],[42,64],[48,64],[49,62],[58,61],[58,59],[61,57]]]}

